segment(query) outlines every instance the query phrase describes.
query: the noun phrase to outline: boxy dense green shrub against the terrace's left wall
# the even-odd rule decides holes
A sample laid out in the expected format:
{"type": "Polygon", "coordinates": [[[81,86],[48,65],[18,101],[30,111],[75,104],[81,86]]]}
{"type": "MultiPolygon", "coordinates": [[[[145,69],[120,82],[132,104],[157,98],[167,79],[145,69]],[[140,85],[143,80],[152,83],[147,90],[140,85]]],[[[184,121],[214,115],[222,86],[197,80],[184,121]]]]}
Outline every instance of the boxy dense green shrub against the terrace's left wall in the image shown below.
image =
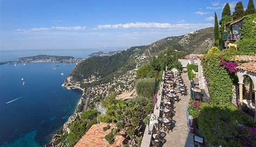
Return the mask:
{"type": "Polygon", "coordinates": [[[138,95],[142,97],[151,98],[156,87],[156,79],[155,78],[138,79],[135,87],[138,95]]]}

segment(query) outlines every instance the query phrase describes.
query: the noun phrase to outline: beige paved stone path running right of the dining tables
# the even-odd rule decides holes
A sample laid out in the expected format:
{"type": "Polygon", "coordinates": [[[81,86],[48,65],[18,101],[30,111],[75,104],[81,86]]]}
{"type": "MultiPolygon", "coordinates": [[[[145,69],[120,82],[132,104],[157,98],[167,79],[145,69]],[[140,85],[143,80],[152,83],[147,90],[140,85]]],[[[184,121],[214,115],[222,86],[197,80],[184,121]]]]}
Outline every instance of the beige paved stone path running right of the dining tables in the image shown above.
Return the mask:
{"type": "Polygon", "coordinates": [[[181,100],[174,104],[176,106],[174,109],[176,114],[173,116],[173,120],[176,121],[176,127],[173,128],[173,131],[170,130],[169,134],[166,132],[165,139],[167,142],[164,144],[164,147],[194,146],[193,134],[188,131],[186,118],[186,106],[190,100],[190,81],[188,80],[187,73],[182,73],[181,77],[187,86],[188,94],[186,96],[179,95],[181,100]]]}

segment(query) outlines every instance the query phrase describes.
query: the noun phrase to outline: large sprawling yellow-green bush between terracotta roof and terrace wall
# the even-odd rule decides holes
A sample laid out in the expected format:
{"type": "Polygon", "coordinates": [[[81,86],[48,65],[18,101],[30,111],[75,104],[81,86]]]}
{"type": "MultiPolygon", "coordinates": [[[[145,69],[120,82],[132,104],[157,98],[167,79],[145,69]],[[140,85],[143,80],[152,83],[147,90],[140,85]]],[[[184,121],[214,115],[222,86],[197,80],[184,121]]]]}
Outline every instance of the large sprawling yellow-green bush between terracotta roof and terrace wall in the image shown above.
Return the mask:
{"type": "Polygon", "coordinates": [[[118,130],[124,130],[127,137],[138,142],[143,135],[143,120],[153,111],[152,98],[137,97],[130,100],[116,100],[109,97],[103,101],[106,106],[104,122],[114,122],[118,130]]]}

